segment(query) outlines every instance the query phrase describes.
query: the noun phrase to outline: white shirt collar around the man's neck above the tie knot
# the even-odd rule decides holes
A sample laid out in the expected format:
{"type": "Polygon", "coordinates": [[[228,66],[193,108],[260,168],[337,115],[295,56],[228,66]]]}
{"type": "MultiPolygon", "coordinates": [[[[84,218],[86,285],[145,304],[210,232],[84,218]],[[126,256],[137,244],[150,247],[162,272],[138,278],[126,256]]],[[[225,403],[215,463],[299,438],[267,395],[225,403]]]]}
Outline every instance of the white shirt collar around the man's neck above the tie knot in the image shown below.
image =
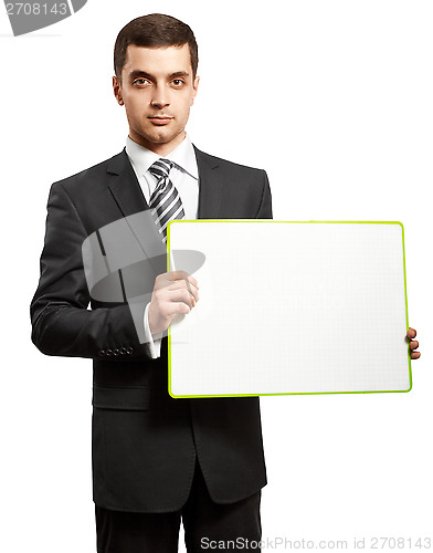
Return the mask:
{"type": "MultiPolygon", "coordinates": [[[[161,156],[155,154],[150,149],[140,146],[131,140],[129,136],[126,138],[126,153],[136,171],[144,175],[149,167],[161,156]]],[[[197,159],[194,148],[189,136],[187,135],[183,140],[173,150],[170,152],[165,159],[170,159],[176,166],[183,171],[187,171],[191,177],[199,178],[199,169],[197,167],[197,159]]]]}

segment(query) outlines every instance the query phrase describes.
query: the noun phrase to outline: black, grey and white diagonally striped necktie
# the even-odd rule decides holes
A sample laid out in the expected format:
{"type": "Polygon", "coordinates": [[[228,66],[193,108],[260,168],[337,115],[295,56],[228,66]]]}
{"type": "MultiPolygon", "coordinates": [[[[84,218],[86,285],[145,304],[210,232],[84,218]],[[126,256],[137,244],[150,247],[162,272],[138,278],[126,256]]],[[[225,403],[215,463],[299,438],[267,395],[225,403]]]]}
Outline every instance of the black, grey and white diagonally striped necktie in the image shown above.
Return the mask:
{"type": "Polygon", "coordinates": [[[167,225],[173,219],[184,217],[182,200],[169,177],[173,165],[169,159],[159,158],[149,167],[149,171],[158,179],[157,187],[150,196],[149,207],[155,225],[162,234],[163,243],[167,242],[167,225]]]}

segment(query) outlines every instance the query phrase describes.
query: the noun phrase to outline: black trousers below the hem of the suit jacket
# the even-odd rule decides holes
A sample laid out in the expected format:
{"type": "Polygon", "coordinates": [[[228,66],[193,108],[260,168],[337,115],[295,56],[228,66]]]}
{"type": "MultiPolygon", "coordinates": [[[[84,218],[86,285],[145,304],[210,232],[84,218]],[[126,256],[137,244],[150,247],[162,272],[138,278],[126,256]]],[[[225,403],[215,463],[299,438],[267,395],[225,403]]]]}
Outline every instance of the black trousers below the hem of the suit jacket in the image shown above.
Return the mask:
{"type": "Polygon", "coordinates": [[[200,466],[186,504],[169,513],[130,513],[95,505],[97,553],[177,553],[182,520],[188,553],[201,551],[260,552],[261,490],[236,503],[214,503],[200,466]]]}

